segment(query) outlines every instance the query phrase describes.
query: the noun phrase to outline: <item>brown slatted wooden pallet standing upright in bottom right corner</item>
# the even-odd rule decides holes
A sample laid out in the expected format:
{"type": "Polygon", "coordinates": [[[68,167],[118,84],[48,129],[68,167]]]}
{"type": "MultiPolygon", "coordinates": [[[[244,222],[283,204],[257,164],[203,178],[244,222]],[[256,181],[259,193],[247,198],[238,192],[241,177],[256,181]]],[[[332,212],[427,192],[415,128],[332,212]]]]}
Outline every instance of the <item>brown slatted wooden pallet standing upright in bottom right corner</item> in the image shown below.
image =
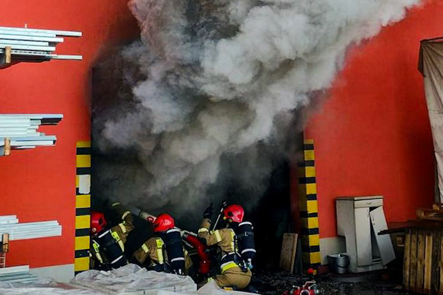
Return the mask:
{"type": "Polygon", "coordinates": [[[405,235],[403,287],[443,295],[443,229],[408,229],[405,235]]]}

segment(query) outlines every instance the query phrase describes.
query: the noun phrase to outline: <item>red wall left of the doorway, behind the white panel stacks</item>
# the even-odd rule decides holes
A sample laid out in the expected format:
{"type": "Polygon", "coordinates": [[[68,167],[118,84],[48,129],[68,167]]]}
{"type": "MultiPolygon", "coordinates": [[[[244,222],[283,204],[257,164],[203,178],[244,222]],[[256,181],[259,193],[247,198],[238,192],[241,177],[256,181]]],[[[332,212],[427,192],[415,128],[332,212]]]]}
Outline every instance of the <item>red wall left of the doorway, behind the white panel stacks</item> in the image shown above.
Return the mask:
{"type": "Polygon", "coordinates": [[[97,58],[137,36],[127,0],[2,0],[0,26],[82,31],[57,52],[84,60],[21,63],[0,70],[0,113],[63,113],[55,147],[0,158],[0,215],[22,222],[57,220],[63,236],[11,242],[7,264],[31,267],[74,262],[75,142],[90,137],[90,75],[97,58]]]}

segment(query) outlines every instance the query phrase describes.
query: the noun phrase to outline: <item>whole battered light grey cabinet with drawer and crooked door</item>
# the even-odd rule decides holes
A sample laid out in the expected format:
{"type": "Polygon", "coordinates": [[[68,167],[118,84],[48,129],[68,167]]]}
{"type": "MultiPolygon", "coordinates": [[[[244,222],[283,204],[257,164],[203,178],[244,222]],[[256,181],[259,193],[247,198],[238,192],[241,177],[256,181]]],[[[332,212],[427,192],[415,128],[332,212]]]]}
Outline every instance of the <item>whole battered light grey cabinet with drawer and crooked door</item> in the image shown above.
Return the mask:
{"type": "Polygon", "coordinates": [[[336,199],[337,231],[345,237],[351,272],[382,269],[395,259],[383,213],[383,196],[354,196],[336,199]]]}

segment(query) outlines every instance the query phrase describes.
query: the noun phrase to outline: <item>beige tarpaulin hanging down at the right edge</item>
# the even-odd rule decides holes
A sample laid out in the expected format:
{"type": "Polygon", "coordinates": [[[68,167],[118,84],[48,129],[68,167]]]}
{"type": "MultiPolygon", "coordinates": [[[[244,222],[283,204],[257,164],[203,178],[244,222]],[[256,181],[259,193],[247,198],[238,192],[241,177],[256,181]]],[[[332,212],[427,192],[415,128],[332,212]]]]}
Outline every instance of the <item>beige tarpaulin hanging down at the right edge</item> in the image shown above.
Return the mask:
{"type": "Polygon", "coordinates": [[[424,40],[418,69],[425,82],[426,101],[434,140],[438,196],[443,202],[443,38],[424,40]]]}

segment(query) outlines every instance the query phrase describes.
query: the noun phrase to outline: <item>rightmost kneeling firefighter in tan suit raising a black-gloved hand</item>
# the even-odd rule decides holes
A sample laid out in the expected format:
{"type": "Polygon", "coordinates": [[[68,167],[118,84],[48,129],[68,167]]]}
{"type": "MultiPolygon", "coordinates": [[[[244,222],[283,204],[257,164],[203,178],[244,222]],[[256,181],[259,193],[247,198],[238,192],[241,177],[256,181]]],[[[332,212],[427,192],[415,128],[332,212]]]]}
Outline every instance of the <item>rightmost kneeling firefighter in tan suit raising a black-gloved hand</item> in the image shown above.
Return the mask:
{"type": "Polygon", "coordinates": [[[240,205],[228,205],[223,209],[223,219],[228,227],[210,231],[213,213],[212,205],[206,208],[198,230],[199,237],[206,240],[208,246],[218,245],[221,251],[221,274],[217,274],[213,279],[221,288],[244,289],[251,282],[252,272],[238,253],[236,233],[233,229],[243,221],[244,210],[240,205]]]}

